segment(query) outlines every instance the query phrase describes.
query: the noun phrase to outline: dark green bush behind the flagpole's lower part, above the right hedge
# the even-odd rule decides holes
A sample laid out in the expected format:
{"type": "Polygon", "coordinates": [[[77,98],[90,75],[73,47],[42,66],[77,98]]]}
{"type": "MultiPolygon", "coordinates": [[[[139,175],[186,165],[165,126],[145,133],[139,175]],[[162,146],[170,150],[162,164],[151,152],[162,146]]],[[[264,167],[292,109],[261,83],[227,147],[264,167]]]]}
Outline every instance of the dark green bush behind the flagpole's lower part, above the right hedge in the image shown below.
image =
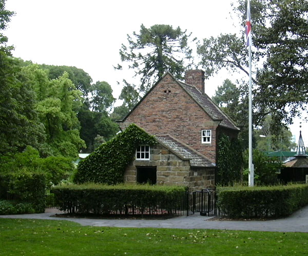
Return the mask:
{"type": "MultiPolygon", "coordinates": [[[[248,180],[248,150],[244,156],[244,180],[248,180]]],[[[268,157],[263,152],[255,149],[253,151],[254,163],[254,180],[258,185],[273,185],[277,184],[277,174],[279,173],[282,163],[278,157],[268,157]]]]}

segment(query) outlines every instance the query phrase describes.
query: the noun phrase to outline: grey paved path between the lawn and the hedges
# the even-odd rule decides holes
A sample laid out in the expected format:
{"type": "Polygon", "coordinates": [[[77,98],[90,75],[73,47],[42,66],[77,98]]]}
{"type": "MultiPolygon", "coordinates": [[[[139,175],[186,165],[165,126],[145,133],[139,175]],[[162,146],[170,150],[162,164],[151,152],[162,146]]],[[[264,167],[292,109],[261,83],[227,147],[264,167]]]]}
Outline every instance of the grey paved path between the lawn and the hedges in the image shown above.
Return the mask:
{"type": "Polygon", "coordinates": [[[56,218],[56,209],[47,209],[45,213],[0,215],[0,218],[68,220],[83,226],[97,227],[153,227],[153,228],[186,228],[186,229],[229,229],[256,230],[278,232],[308,232],[308,206],[298,210],[288,218],[271,221],[216,221],[210,217],[195,213],[191,216],[179,216],[167,220],[110,220],[110,219],[82,219],[56,218]]]}

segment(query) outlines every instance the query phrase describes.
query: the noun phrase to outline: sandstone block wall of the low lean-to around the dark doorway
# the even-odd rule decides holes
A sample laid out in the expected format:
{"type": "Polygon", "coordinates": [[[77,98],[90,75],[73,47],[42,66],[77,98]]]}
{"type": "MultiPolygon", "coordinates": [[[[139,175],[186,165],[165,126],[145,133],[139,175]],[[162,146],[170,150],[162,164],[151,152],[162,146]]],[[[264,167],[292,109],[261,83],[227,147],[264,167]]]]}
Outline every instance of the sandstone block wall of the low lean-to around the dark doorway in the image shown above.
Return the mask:
{"type": "Polygon", "coordinates": [[[136,166],[156,166],[158,185],[187,186],[190,191],[214,188],[215,168],[191,168],[189,160],[183,160],[164,146],[150,148],[150,160],[134,160],[126,168],[124,182],[137,183],[136,166]]]}

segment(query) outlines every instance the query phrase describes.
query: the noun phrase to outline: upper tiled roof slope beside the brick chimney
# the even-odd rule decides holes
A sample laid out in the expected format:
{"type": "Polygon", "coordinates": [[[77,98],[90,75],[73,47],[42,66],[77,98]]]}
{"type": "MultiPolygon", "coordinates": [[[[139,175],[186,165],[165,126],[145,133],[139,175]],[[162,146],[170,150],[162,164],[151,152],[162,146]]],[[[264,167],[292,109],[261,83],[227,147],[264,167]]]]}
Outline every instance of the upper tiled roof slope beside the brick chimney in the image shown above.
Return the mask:
{"type": "Polygon", "coordinates": [[[205,93],[201,93],[195,86],[187,85],[179,82],[182,88],[203,108],[203,110],[213,119],[221,120],[220,126],[239,130],[238,127],[229,119],[229,117],[223,113],[223,111],[207,96],[205,93]]]}

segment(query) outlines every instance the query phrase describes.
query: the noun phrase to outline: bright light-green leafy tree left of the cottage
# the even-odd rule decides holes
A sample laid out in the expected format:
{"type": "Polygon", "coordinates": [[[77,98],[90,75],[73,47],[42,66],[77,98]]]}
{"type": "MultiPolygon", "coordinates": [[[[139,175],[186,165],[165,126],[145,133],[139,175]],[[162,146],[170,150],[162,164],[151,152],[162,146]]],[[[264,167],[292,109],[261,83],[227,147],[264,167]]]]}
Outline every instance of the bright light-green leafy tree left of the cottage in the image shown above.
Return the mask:
{"type": "Polygon", "coordinates": [[[22,72],[35,92],[35,109],[45,126],[51,154],[76,158],[85,146],[76,114],[82,106],[81,92],[75,90],[68,73],[49,80],[47,71],[38,65],[23,67],[22,72]]]}

